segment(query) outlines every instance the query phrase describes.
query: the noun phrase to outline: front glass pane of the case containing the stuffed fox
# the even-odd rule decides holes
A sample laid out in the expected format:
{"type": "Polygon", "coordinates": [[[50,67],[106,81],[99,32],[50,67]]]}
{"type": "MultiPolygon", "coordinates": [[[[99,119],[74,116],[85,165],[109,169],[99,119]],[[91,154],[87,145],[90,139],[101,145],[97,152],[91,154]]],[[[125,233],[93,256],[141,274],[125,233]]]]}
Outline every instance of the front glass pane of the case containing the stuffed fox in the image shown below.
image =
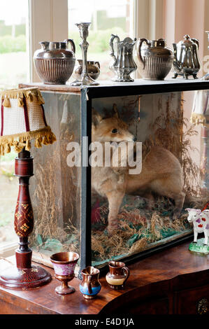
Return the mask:
{"type": "MultiPolygon", "coordinates": [[[[203,91],[205,103],[207,93],[203,91]]],[[[140,174],[92,168],[93,265],[192,233],[185,209],[202,209],[209,201],[207,127],[190,123],[194,94],[93,100],[93,141],[129,141],[131,133],[142,142],[140,174]]]]}

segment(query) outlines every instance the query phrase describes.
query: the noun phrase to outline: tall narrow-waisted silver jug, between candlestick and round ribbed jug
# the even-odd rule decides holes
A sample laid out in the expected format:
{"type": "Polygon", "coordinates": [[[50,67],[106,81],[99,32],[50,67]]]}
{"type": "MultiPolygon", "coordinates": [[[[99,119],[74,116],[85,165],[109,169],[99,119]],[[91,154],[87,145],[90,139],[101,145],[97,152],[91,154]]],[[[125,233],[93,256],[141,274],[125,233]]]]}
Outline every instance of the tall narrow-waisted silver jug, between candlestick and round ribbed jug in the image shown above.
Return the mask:
{"type": "Polygon", "coordinates": [[[113,57],[113,63],[110,64],[110,69],[115,72],[113,81],[132,82],[134,79],[130,74],[136,71],[137,66],[133,58],[133,49],[136,43],[136,38],[132,40],[127,37],[120,41],[119,36],[111,34],[110,38],[110,56],[113,57]],[[115,42],[114,42],[115,41],[115,42]]]}

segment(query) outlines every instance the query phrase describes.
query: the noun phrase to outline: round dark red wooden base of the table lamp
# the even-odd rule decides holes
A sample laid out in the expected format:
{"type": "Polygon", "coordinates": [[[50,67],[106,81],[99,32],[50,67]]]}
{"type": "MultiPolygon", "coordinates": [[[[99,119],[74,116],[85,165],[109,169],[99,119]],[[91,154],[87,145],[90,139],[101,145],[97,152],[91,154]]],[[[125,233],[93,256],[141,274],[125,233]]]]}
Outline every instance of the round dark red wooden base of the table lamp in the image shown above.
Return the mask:
{"type": "Polygon", "coordinates": [[[42,267],[32,266],[28,269],[17,269],[13,266],[1,272],[0,286],[10,289],[31,289],[43,286],[51,279],[50,273],[42,267]]]}

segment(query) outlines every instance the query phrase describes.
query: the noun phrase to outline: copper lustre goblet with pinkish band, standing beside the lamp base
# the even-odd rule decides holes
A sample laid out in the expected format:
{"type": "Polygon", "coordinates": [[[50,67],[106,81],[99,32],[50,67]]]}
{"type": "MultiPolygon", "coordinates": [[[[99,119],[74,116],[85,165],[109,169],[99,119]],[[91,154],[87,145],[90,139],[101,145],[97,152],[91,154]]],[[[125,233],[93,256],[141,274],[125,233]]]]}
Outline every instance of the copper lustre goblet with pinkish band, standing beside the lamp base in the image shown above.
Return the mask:
{"type": "Polygon", "coordinates": [[[72,251],[51,255],[50,260],[55,269],[55,278],[62,282],[62,286],[55,288],[55,292],[59,293],[59,295],[74,293],[75,288],[69,286],[68,282],[73,280],[75,276],[74,270],[78,258],[78,253],[73,253],[72,251]]]}

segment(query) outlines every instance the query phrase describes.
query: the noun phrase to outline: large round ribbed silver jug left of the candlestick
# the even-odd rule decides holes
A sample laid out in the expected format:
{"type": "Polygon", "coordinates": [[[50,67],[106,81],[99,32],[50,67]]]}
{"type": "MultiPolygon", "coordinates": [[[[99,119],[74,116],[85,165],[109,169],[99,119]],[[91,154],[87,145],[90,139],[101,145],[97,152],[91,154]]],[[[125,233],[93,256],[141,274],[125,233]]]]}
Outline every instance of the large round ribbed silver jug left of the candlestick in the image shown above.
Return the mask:
{"type": "Polygon", "coordinates": [[[43,83],[64,85],[75,66],[75,43],[72,39],[62,42],[41,41],[41,49],[34,52],[34,65],[43,83]],[[71,50],[68,45],[71,45],[71,50]]]}

